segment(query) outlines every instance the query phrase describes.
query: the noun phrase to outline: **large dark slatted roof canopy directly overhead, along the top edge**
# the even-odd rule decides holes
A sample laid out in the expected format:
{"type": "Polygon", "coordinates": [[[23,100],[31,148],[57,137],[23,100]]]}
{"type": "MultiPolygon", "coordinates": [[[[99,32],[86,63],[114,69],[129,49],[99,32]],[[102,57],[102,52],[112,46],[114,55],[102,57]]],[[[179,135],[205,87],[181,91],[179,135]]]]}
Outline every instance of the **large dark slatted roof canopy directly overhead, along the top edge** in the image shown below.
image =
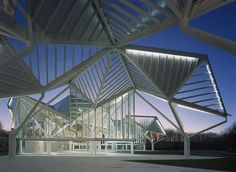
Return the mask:
{"type": "Polygon", "coordinates": [[[27,1],[38,42],[124,45],[230,1],[27,1]],[[176,10],[177,9],[177,10],[176,10]]]}

